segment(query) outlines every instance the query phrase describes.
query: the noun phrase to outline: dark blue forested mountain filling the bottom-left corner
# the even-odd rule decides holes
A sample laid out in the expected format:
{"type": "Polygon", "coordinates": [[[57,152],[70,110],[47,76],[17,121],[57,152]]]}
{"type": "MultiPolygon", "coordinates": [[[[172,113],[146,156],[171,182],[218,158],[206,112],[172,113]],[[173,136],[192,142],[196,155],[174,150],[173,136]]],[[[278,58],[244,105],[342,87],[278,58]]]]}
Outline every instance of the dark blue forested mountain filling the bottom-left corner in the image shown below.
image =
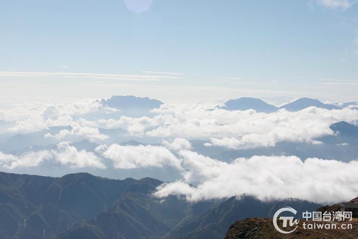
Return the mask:
{"type": "Polygon", "coordinates": [[[113,205],[134,182],[89,173],[51,178],[0,172],[0,238],[40,238],[42,230],[55,238],[113,205]]]}

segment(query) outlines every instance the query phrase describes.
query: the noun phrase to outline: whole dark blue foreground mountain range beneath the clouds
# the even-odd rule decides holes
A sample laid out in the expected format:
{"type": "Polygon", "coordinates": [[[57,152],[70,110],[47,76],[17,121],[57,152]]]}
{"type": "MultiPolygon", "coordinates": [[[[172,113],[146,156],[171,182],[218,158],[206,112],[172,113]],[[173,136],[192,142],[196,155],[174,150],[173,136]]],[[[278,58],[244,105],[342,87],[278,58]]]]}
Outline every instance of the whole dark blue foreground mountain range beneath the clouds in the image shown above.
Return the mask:
{"type": "Polygon", "coordinates": [[[162,181],[112,180],[89,173],[60,178],[0,172],[1,238],[222,238],[232,223],[272,216],[282,206],[311,210],[299,200],[239,199],[188,202],[152,192],[162,181]]]}

